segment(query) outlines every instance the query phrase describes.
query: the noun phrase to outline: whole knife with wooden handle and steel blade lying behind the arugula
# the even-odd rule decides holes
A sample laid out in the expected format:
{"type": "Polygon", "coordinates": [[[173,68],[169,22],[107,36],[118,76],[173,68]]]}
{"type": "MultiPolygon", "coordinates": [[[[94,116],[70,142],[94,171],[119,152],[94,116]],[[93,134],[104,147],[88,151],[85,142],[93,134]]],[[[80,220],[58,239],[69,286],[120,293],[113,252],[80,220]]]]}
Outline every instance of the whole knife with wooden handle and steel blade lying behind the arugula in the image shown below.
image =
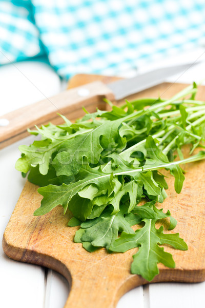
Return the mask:
{"type": "Polygon", "coordinates": [[[131,79],[122,79],[105,85],[96,81],[85,86],[65,90],[54,97],[14,110],[0,117],[0,148],[3,148],[28,135],[27,128],[34,125],[61,124],[57,113],[74,120],[84,115],[82,106],[89,112],[96,107],[106,109],[103,98],[118,101],[128,95],[145,90],[163,82],[168,76],[185,72],[196,63],[187,63],[167,68],[159,68],[131,79]]]}

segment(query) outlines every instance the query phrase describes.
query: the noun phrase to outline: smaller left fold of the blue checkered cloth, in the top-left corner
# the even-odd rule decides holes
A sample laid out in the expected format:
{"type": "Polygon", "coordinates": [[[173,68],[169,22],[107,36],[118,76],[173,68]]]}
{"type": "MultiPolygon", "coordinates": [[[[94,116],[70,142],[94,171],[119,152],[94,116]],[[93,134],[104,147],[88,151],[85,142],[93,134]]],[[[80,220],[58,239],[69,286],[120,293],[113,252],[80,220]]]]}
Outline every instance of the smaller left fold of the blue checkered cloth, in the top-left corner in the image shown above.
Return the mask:
{"type": "Polygon", "coordinates": [[[0,0],[0,64],[43,54],[31,2],[0,0]]]}

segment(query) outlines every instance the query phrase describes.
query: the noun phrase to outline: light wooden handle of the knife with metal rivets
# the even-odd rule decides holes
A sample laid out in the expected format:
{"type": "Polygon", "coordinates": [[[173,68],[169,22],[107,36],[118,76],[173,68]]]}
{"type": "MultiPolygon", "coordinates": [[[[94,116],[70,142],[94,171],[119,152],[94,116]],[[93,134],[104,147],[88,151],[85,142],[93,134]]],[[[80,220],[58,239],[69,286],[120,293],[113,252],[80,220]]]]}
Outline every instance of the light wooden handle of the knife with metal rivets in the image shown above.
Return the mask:
{"type": "Polygon", "coordinates": [[[74,120],[85,114],[83,106],[89,112],[94,112],[96,107],[105,110],[103,98],[113,101],[114,94],[104,83],[97,81],[9,112],[0,117],[0,148],[26,137],[27,128],[32,129],[34,125],[47,124],[50,121],[61,124],[63,119],[57,113],[74,120]]]}

